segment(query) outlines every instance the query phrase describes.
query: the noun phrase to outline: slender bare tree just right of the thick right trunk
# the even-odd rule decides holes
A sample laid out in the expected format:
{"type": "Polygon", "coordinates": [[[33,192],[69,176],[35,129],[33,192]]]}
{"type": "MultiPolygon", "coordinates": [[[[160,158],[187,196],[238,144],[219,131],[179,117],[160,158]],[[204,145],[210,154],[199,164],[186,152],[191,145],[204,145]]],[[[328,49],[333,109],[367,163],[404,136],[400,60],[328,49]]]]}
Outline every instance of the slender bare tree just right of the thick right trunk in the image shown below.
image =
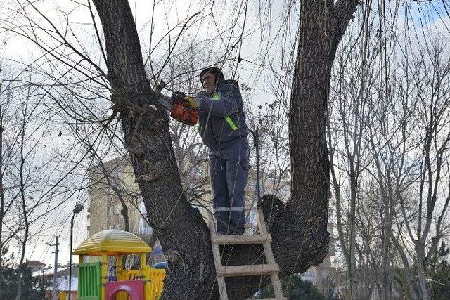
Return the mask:
{"type": "MultiPolygon", "coordinates": [[[[366,298],[366,293],[371,292],[371,285],[366,282],[368,277],[361,274],[364,273],[364,268],[357,266],[361,266],[361,259],[358,257],[358,252],[361,252],[359,237],[361,230],[366,228],[359,218],[367,215],[360,211],[361,194],[366,193],[361,185],[364,170],[370,162],[370,158],[366,159],[368,143],[363,133],[371,126],[368,94],[374,83],[371,68],[376,54],[367,52],[370,47],[367,39],[364,39],[363,44],[355,45],[357,37],[352,33],[347,35],[345,43],[338,48],[333,68],[328,145],[338,240],[347,264],[352,299],[359,299],[366,298]]],[[[366,236],[362,243],[368,240],[366,236]]]]}

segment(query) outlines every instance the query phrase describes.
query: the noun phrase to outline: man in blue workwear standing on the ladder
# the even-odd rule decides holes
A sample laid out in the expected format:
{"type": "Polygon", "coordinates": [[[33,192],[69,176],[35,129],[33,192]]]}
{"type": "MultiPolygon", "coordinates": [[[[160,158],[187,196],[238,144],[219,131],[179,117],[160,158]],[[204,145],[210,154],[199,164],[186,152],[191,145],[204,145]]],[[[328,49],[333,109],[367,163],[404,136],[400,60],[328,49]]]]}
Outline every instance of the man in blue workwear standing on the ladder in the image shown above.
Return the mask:
{"type": "Polygon", "coordinates": [[[243,100],[236,81],[224,80],[217,67],[200,73],[199,131],[209,148],[212,203],[219,235],[244,233],[249,147],[243,100]]]}

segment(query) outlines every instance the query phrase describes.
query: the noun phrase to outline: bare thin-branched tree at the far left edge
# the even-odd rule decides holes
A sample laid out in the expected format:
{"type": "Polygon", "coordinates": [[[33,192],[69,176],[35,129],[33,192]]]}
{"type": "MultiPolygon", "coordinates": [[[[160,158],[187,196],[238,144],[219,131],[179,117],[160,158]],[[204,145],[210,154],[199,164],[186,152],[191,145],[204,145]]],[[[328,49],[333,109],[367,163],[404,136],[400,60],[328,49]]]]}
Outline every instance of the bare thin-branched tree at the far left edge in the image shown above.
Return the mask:
{"type": "MultiPolygon", "coordinates": [[[[41,157],[45,141],[54,131],[49,122],[51,112],[41,107],[39,87],[30,83],[28,70],[16,75],[13,82],[6,80],[11,76],[7,75],[0,82],[0,251],[10,242],[18,242],[15,297],[23,299],[21,278],[29,275],[23,273],[27,272],[25,253],[32,237],[41,233],[31,226],[58,207],[70,189],[62,189],[68,182],[64,172],[49,171],[49,166],[60,167],[65,157],[56,153],[41,157]]],[[[1,259],[0,294],[4,282],[1,259]]]]}

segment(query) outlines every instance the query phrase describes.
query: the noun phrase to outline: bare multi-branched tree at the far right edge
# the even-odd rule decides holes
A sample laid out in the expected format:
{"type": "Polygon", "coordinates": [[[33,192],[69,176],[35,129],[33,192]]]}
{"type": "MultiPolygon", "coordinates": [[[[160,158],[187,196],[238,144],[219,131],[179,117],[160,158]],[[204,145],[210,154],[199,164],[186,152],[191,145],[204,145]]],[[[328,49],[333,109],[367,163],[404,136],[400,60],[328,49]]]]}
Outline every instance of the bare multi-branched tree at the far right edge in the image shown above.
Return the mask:
{"type": "Polygon", "coordinates": [[[404,124],[403,135],[407,138],[400,148],[405,154],[399,161],[401,164],[393,168],[394,184],[385,184],[386,189],[394,188],[393,195],[401,216],[401,221],[396,220],[398,236],[392,235],[391,240],[404,263],[411,296],[420,299],[430,299],[426,266],[449,228],[445,214],[450,203],[447,151],[450,112],[449,86],[444,82],[449,80],[450,69],[443,53],[442,45],[434,44],[427,53],[428,59],[421,54],[413,56],[412,64],[404,63],[402,72],[409,81],[399,83],[399,89],[405,107],[403,111],[409,111],[410,115],[406,122],[401,122],[404,124]],[[429,77],[430,71],[435,76],[429,77]],[[441,188],[439,185],[447,186],[441,188]],[[411,247],[413,255],[409,254],[411,247]],[[408,256],[412,256],[413,266],[408,256]],[[416,268],[417,287],[412,268],[416,268]]]}

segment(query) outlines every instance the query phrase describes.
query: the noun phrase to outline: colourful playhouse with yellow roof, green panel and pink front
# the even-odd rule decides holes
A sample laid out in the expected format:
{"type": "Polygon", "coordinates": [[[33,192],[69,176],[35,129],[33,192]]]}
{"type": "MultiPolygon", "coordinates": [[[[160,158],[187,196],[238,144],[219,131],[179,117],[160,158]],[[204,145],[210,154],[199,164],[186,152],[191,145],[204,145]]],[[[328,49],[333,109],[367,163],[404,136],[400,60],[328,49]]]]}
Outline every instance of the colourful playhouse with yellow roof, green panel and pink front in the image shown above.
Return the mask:
{"type": "MultiPolygon", "coordinates": [[[[78,255],[79,300],[156,300],[162,293],[166,270],[150,268],[146,254],[152,249],[140,237],[124,230],[108,229],[91,235],[75,249],[78,255]],[[122,270],[122,256],[139,254],[141,268],[122,270]],[[86,256],[101,256],[101,261],[84,262],[86,256]],[[115,263],[108,269],[108,256],[115,263]],[[110,273],[108,275],[108,270],[110,273]]],[[[111,261],[111,260],[110,260],[111,261]]]]}

